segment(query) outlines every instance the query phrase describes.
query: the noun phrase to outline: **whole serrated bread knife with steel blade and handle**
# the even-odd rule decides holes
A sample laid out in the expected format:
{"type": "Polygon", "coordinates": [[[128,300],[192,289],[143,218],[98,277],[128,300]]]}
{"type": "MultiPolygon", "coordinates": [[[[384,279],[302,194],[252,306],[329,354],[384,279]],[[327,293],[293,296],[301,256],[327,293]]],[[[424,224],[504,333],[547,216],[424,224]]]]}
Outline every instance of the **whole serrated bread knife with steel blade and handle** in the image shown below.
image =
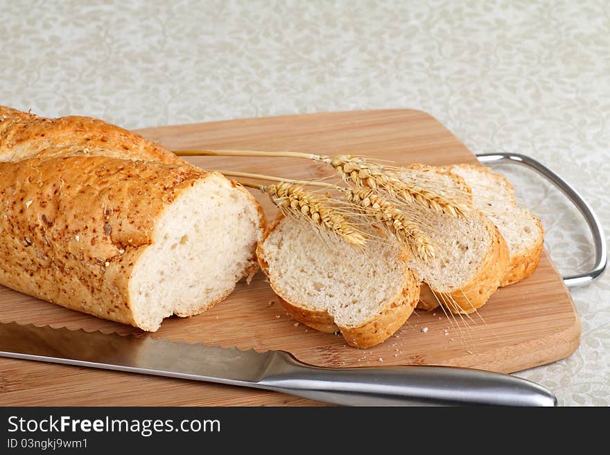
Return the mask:
{"type": "Polygon", "coordinates": [[[322,368],[281,350],[187,344],[32,324],[0,323],[0,357],[267,389],[351,406],[555,406],[538,384],[448,366],[322,368]]]}

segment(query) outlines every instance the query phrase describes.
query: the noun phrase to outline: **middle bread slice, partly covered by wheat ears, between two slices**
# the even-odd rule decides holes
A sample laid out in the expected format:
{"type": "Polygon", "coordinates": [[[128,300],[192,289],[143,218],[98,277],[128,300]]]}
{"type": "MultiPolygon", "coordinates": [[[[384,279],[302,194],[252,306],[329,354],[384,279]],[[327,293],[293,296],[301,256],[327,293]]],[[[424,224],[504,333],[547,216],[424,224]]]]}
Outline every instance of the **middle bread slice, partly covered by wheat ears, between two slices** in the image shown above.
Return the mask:
{"type": "MultiPolygon", "coordinates": [[[[408,174],[436,195],[469,204],[468,186],[447,170],[414,165],[408,174]]],[[[496,226],[477,210],[467,217],[420,211],[414,221],[435,248],[435,258],[410,260],[424,280],[417,308],[433,310],[442,304],[451,312],[468,314],[484,305],[498,289],[508,263],[507,246],[496,226]]]]}

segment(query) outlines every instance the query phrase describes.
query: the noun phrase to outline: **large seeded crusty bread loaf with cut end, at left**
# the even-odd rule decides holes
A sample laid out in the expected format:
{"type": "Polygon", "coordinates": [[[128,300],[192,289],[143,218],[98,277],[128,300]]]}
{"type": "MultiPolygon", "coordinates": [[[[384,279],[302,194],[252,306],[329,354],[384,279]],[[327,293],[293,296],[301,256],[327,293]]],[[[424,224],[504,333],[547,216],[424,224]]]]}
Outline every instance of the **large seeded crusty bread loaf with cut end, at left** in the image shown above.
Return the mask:
{"type": "Polygon", "coordinates": [[[256,269],[264,215],[218,172],[87,117],[0,107],[0,284],[154,331],[256,269]]]}

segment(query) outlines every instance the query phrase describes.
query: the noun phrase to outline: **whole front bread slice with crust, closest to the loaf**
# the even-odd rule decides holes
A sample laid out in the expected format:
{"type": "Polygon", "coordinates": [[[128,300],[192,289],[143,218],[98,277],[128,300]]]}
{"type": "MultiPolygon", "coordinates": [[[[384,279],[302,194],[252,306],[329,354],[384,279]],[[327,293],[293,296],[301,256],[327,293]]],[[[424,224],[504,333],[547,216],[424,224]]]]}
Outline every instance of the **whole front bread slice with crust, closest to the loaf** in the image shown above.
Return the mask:
{"type": "Polygon", "coordinates": [[[294,217],[280,216],[268,227],[257,255],[272,289],[297,321],[320,332],[339,330],[356,348],[390,337],[419,297],[419,283],[401,248],[379,242],[351,247],[294,217]]]}

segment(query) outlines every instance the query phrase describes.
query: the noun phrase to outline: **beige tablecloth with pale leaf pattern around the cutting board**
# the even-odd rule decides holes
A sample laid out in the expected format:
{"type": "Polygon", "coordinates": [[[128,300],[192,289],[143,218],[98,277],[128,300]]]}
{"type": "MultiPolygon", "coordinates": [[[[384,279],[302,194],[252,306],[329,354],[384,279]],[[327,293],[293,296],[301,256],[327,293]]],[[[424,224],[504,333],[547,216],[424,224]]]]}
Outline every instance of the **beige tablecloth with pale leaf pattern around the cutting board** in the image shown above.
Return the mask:
{"type": "MultiPolygon", "coordinates": [[[[530,154],[610,231],[610,3],[0,0],[0,104],[124,127],[315,111],[428,111],[473,152],[530,154]]],[[[507,172],[562,271],[591,264],[577,212],[507,172]]],[[[572,292],[582,345],[519,373],[610,404],[610,274],[572,292]]]]}

